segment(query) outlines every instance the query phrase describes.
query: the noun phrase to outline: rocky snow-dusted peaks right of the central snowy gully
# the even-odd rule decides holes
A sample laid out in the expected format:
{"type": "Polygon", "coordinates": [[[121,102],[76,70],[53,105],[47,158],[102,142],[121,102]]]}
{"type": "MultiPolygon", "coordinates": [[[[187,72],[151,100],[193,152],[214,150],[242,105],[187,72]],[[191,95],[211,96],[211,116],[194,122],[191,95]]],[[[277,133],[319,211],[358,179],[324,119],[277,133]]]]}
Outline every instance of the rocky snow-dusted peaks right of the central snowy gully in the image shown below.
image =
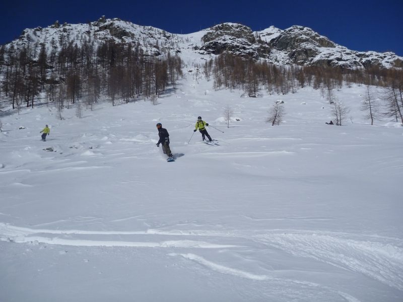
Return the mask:
{"type": "Polygon", "coordinates": [[[205,44],[195,49],[201,54],[232,51],[273,64],[342,68],[403,67],[403,58],[393,52],[350,50],[303,26],[292,26],[285,30],[271,26],[252,32],[246,26],[226,23],[210,28],[201,39],[205,44]]]}

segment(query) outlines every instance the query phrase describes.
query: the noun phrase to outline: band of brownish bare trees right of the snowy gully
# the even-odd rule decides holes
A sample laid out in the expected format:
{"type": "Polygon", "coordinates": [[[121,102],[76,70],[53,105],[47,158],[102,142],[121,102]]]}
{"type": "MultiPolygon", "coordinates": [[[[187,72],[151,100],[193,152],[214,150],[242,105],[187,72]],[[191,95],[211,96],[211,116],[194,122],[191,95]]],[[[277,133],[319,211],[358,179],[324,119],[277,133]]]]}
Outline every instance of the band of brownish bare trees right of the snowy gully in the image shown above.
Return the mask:
{"type": "Polygon", "coordinates": [[[403,124],[403,69],[379,68],[372,66],[361,69],[342,69],[330,66],[277,66],[265,61],[243,58],[230,52],[224,52],[197,66],[208,81],[213,79],[217,89],[240,89],[248,97],[258,97],[260,90],[269,94],[284,95],[295,93],[297,89],[312,86],[319,90],[323,98],[335,107],[332,112],[337,123],[342,124],[343,116],[348,113],[347,107],[334,95],[334,90],[342,89],[343,85],[351,87],[352,83],[367,87],[363,100],[365,116],[371,119],[391,117],[403,124]],[[384,101],[383,111],[377,102],[377,96],[371,87],[382,88],[380,98],[384,101]],[[343,114],[344,113],[344,114],[343,114]]]}

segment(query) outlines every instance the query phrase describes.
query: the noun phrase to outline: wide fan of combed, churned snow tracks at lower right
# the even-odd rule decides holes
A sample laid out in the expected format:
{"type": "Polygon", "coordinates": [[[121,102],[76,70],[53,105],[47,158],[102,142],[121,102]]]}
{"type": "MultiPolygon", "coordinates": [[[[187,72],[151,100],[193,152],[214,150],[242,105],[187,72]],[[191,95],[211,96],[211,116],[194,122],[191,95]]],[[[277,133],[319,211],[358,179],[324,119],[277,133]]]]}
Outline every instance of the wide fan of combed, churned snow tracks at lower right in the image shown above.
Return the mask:
{"type": "Polygon", "coordinates": [[[361,273],[391,287],[403,290],[403,248],[400,240],[320,232],[273,232],[254,236],[268,246],[300,257],[308,257],[361,273]],[[285,233],[283,233],[285,232],[285,233]],[[356,236],[358,237],[358,236],[356,236]]]}

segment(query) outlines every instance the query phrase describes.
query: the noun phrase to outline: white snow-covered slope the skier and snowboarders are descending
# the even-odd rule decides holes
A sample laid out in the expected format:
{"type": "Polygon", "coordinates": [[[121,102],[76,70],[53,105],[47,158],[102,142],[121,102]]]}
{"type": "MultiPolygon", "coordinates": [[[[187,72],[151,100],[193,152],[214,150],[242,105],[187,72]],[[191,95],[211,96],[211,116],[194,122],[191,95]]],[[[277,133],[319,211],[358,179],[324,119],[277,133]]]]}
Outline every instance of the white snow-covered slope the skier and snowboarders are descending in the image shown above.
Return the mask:
{"type": "MultiPolygon", "coordinates": [[[[180,47],[189,67],[204,61],[180,47]]],[[[1,301],[403,300],[402,128],[362,119],[364,87],[335,92],[351,108],[339,127],[311,87],[212,86],[186,72],[155,106],[2,117],[1,301]],[[278,100],[287,115],[271,127],[278,100]],[[218,145],[191,138],[199,115],[218,145]]]]}

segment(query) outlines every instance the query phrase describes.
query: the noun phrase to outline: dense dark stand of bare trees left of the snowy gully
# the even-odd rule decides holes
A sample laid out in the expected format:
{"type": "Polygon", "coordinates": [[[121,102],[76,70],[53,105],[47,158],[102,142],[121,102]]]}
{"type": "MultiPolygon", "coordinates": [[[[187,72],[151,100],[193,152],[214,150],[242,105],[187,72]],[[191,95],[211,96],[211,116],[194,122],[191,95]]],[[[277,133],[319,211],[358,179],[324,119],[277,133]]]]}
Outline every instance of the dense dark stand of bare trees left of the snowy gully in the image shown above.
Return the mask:
{"type": "Polygon", "coordinates": [[[70,104],[85,103],[92,109],[101,95],[116,101],[160,96],[167,85],[174,86],[182,75],[178,55],[156,57],[146,54],[140,44],[132,46],[107,41],[96,46],[85,40],[81,46],[71,41],[61,47],[52,40],[30,43],[21,49],[12,44],[0,48],[0,108],[34,107],[46,93],[46,103],[60,110],[70,104]]]}

